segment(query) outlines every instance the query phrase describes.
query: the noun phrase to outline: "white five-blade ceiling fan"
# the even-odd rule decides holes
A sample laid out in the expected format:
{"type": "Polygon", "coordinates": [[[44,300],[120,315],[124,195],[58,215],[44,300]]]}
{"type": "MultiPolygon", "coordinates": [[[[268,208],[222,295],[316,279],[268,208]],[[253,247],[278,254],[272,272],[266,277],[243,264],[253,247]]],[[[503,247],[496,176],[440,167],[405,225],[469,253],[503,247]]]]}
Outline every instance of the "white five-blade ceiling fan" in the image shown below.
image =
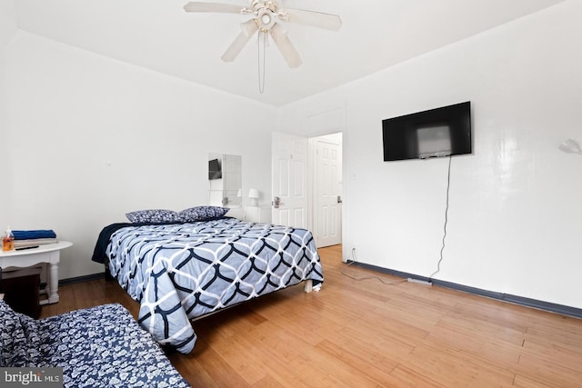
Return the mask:
{"type": "Polygon", "coordinates": [[[250,15],[252,17],[240,25],[240,34],[236,36],[235,41],[222,55],[222,60],[225,62],[234,61],[246,43],[258,31],[265,33],[265,35],[271,35],[289,67],[298,67],[302,63],[301,57],[295,46],[291,44],[285,29],[279,25],[279,21],[311,25],[326,30],[338,30],[342,25],[339,15],[282,8],[279,0],[250,0],[248,7],[222,3],[190,2],[184,5],[184,9],[186,12],[216,12],[250,15]]]}

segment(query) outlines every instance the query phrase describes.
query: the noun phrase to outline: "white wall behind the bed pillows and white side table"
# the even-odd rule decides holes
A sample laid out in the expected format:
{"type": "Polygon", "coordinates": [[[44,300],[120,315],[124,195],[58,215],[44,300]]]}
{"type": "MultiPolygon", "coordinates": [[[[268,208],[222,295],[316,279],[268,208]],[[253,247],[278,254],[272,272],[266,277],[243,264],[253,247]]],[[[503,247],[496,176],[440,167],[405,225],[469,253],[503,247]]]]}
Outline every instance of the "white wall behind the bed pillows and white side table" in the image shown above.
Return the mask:
{"type": "Polygon", "coordinates": [[[125,213],[207,204],[209,153],[242,156],[243,192],[270,190],[276,108],[23,31],[6,58],[12,179],[0,226],[73,242],[61,279],[103,271],[90,261],[97,235],[125,213]]]}

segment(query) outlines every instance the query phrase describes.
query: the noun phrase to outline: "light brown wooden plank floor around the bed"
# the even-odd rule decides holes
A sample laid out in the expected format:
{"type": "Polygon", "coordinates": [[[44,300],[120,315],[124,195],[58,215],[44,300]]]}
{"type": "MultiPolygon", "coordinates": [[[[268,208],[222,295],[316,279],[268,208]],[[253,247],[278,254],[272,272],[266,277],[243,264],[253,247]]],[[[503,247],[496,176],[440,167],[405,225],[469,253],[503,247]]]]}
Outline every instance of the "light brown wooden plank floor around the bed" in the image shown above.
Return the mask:
{"type": "MultiPolygon", "coordinates": [[[[326,282],[196,321],[195,350],[170,354],[195,387],[581,387],[582,320],[399,282],[320,249],[326,282]]],[[[115,282],[65,285],[43,316],[137,303],[115,282]]]]}

